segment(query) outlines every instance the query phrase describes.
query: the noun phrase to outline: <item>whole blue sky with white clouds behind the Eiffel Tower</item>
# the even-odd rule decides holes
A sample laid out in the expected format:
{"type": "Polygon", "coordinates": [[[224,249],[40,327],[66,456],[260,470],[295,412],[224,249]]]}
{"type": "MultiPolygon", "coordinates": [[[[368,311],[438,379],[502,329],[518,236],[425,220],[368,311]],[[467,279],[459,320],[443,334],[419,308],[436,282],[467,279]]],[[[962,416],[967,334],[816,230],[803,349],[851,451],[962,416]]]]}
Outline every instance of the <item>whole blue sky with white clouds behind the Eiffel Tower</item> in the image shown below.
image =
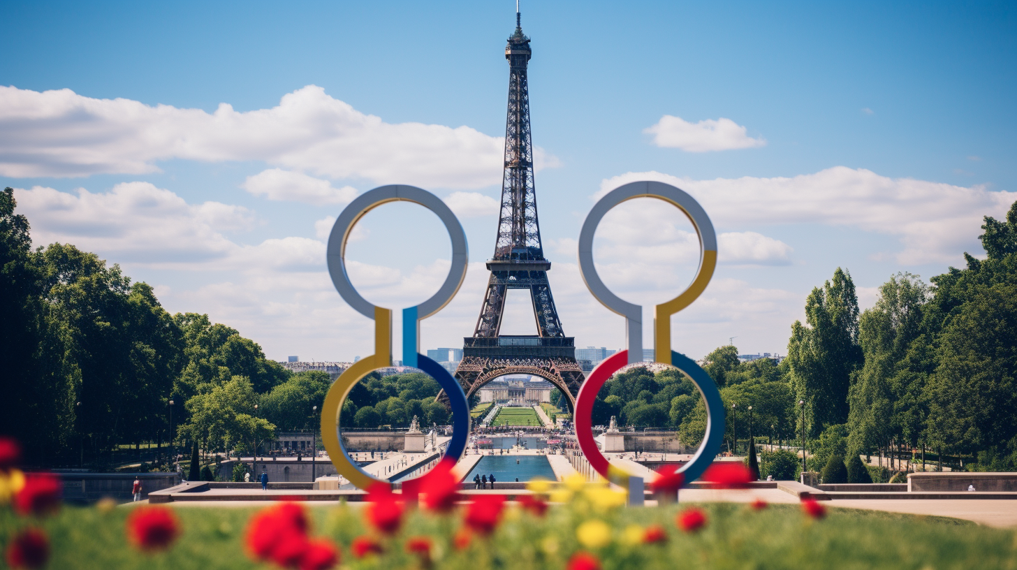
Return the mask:
{"type": "MultiPolygon", "coordinates": [[[[19,189],[39,243],[96,250],[157,286],[168,309],[208,312],[272,357],[344,360],[370,352],[370,324],[330,290],[321,228],[356,192],[425,187],[458,205],[477,263],[423,329],[425,348],[456,346],[472,332],[493,246],[491,149],[504,131],[514,9],[5,2],[0,86],[16,91],[0,96],[0,183],[19,189]],[[50,90],[73,94],[40,95],[50,90]],[[249,114],[287,94],[302,96],[265,124],[249,114]],[[229,124],[208,119],[221,103],[236,112],[229,124]],[[295,110],[309,118],[290,131],[295,110]]],[[[836,267],[872,304],[897,271],[928,278],[981,253],[980,216],[1017,200],[1012,4],[524,0],[522,10],[546,156],[541,229],[580,346],[623,342],[620,319],[575,271],[592,196],[617,183],[671,181],[727,234],[711,288],[674,321],[674,348],[696,357],[732,336],[742,352],[783,353],[804,296],[836,267]],[[721,119],[735,129],[722,140],[700,123],[721,119]],[[717,150],[700,152],[697,136],[717,150]]],[[[448,247],[436,219],[386,209],[365,219],[351,259],[368,298],[399,308],[436,288],[448,247]]],[[[605,279],[640,302],[673,295],[695,264],[687,224],[666,209],[617,214],[598,233],[605,279]]],[[[525,332],[521,306],[513,319],[525,332]]]]}

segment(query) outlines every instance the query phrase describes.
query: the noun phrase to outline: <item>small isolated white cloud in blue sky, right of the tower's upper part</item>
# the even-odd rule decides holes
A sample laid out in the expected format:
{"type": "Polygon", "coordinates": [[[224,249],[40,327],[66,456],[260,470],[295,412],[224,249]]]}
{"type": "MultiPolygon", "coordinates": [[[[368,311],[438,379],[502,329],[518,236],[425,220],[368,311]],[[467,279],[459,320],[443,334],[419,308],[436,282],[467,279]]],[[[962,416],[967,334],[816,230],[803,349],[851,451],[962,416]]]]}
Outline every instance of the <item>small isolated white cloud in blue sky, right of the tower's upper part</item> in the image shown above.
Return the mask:
{"type": "Polygon", "coordinates": [[[745,134],[745,127],[723,117],[691,123],[681,117],[664,115],[657,124],[643,130],[653,134],[658,147],[681,149],[689,153],[731,151],[763,147],[766,140],[745,134]]]}

